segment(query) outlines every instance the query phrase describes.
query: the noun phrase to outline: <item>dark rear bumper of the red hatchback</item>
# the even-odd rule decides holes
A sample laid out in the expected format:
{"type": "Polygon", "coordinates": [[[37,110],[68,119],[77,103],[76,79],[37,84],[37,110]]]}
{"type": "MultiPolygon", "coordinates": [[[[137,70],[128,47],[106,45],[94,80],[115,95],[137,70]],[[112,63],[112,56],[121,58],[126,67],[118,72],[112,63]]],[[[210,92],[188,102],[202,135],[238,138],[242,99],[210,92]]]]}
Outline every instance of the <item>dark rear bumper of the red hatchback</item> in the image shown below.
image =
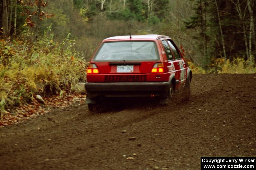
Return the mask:
{"type": "Polygon", "coordinates": [[[167,97],[169,82],[88,82],[87,96],[95,97],[167,97]]]}

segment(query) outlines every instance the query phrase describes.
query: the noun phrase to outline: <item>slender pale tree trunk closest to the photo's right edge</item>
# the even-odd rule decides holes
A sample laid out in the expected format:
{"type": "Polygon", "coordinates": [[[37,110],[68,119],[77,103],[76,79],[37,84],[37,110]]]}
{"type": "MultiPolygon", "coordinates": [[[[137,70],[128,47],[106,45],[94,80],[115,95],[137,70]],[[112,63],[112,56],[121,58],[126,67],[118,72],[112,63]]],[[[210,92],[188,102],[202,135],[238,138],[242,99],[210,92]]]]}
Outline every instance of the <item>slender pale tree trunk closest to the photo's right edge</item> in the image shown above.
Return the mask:
{"type": "MultiPolygon", "coordinates": [[[[253,1],[254,3],[254,1],[253,1]]],[[[254,43],[254,50],[256,51],[256,37],[255,37],[255,28],[254,28],[254,19],[253,19],[253,10],[251,9],[251,0],[247,0],[247,6],[248,6],[248,10],[250,13],[250,34],[249,34],[249,55],[250,58],[252,56],[252,52],[251,52],[251,46],[252,46],[252,42],[251,40],[253,39],[253,43],[254,43]]],[[[252,7],[254,6],[254,4],[252,4],[252,7]]]]}

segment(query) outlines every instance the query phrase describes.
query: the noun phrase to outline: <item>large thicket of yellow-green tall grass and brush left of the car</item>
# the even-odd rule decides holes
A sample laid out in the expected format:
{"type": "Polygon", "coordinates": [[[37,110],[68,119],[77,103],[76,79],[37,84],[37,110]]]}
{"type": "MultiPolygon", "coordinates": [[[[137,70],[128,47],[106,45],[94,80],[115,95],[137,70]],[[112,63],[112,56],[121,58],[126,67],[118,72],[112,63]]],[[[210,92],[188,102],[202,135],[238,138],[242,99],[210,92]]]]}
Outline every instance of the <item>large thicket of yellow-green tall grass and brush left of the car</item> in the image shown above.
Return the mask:
{"type": "Polygon", "coordinates": [[[86,79],[83,55],[73,50],[70,34],[62,43],[53,35],[32,42],[30,33],[20,39],[0,40],[0,110],[33,100],[35,94],[62,94],[86,79]]]}

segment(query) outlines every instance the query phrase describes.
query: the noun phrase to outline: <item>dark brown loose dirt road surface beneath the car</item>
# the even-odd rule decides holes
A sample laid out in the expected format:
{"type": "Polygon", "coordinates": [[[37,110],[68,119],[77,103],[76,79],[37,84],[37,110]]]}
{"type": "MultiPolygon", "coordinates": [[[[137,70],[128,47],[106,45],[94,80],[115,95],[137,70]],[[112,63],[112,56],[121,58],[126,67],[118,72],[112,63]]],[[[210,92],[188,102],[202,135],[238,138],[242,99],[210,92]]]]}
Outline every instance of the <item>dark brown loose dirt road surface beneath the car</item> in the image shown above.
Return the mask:
{"type": "Polygon", "coordinates": [[[256,74],[196,74],[191,91],[169,106],[83,104],[1,128],[0,169],[200,169],[202,156],[256,156],[256,74]]]}

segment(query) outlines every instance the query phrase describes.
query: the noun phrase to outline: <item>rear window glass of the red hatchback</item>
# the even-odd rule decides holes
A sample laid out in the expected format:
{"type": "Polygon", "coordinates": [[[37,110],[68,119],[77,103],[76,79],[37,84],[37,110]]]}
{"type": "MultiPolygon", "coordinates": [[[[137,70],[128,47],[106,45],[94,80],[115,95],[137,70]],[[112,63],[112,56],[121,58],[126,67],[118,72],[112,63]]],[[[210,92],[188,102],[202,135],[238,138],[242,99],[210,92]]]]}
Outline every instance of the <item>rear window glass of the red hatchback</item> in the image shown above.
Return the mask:
{"type": "Polygon", "coordinates": [[[94,57],[94,61],[155,61],[158,57],[153,41],[105,42],[94,57]]]}

